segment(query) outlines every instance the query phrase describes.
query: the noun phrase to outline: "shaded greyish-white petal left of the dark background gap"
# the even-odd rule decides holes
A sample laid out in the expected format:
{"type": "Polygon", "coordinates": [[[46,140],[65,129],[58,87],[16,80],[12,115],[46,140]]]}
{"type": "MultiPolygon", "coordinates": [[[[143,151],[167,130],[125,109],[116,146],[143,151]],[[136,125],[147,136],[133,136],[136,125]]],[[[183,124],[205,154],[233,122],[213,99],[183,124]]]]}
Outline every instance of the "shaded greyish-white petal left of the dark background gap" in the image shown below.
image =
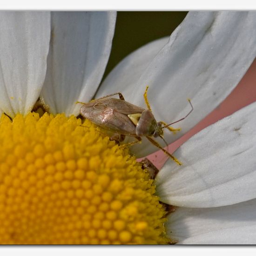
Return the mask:
{"type": "Polygon", "coordinates": [[[54,12],[42,96],[50,112],[78,115],[101,81],[115,31],[115,12],[54,12]]]}

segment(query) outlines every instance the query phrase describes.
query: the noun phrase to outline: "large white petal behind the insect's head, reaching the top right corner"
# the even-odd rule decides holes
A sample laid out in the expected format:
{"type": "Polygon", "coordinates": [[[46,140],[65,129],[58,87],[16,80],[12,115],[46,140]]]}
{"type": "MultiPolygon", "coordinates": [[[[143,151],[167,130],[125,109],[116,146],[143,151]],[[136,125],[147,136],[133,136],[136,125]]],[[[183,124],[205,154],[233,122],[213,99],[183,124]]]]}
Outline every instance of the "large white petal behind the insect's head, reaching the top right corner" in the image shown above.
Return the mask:
{"type": "MultiPolygon", "coordinates": [[[[121,92],[127,101],[146,108],[143,92],[149,85],[148,99],[153,114],[157,121],[167,123],[189,112],[187,99],[190,98],[194,111],[174,125],[182,130],[175,136],[165,134],[168,143],[175,141],[236,87],[256,55],[255,27],[255,12],[191,12],[155,58],[151,62],[146,58],[148,64],[143,67],[147,68],[141,70],[139,78],[135,71],[137,81],[134,82],[131,75],[131,83],[126,81],[121,92]]],[[[142,54],[136,56],[139,58],[143,62],[142,54]]],[[[127,61],[129,63],[132,59],[127,61]]],[[[128,67],[120,65],[114,72],[118,73],[118,69],[123,77],[128,67]]],[[[111,88],[119,88],[120,84],[120,79],[111,79],[111,88]]],[[[104,93],[107,94],[107,88],[104,93]]],[[[154,152],[155,148],[145,141],[132,150],[141,157],[154,152]]]]}

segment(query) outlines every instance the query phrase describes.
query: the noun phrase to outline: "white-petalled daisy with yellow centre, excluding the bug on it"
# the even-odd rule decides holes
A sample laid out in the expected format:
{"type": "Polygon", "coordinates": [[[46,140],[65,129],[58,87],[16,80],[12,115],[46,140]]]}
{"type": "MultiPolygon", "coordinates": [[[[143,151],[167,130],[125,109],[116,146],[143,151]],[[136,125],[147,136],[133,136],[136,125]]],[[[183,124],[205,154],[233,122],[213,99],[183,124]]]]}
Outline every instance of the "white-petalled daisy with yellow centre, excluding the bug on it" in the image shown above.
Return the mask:
{"type": "MultiPolygon", "coordinates": [[[[182,145],[182,167],[168,161],[155,185],[127,148],[76,117],[76,101],[90,101],[101,82],[115,16],[0,13],[1,243],[252,243],[255,104],[182,145]],[[50,114],[31,112],[39,96],[50,114]],[[159,200],[180,208],[167,216],[159,200]]],[[[255,26],[254,12],[189,13],[170,38],[125,58],[95,98],[120,91],[143,107],[148,85],[163,121],[184,116],[190,98],[194,112],[179,133],[165,134],[170,143],[243,77],[256,55],[255,26]]],[[[136,157],[154,150],[145,140],[131,148],[136,157]]]]}

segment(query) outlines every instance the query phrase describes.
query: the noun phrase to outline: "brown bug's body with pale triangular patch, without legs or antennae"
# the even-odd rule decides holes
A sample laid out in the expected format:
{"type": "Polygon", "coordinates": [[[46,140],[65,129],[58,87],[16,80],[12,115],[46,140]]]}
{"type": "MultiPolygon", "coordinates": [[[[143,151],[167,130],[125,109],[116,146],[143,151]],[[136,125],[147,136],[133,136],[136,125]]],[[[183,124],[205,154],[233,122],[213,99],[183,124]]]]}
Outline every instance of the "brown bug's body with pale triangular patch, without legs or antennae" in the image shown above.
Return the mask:
{"type": "Polygon", "coordinates": [[[101,128],[133,137],[152,136],[157,125],[148,109],[115,98],[86,103],[80,113],[101,128]]]}

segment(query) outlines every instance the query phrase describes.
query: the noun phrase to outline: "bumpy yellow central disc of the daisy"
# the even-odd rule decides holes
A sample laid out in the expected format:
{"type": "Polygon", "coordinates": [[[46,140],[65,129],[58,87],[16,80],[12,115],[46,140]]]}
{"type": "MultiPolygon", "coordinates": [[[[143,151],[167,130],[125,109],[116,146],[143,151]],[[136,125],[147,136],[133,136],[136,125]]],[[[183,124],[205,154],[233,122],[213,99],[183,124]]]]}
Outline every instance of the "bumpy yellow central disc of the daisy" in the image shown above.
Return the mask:
{"type": "Polygon", "coordinates": [[[152,183],[90,121],[0,118],[1,244],[166,244],[152,183]]]}

